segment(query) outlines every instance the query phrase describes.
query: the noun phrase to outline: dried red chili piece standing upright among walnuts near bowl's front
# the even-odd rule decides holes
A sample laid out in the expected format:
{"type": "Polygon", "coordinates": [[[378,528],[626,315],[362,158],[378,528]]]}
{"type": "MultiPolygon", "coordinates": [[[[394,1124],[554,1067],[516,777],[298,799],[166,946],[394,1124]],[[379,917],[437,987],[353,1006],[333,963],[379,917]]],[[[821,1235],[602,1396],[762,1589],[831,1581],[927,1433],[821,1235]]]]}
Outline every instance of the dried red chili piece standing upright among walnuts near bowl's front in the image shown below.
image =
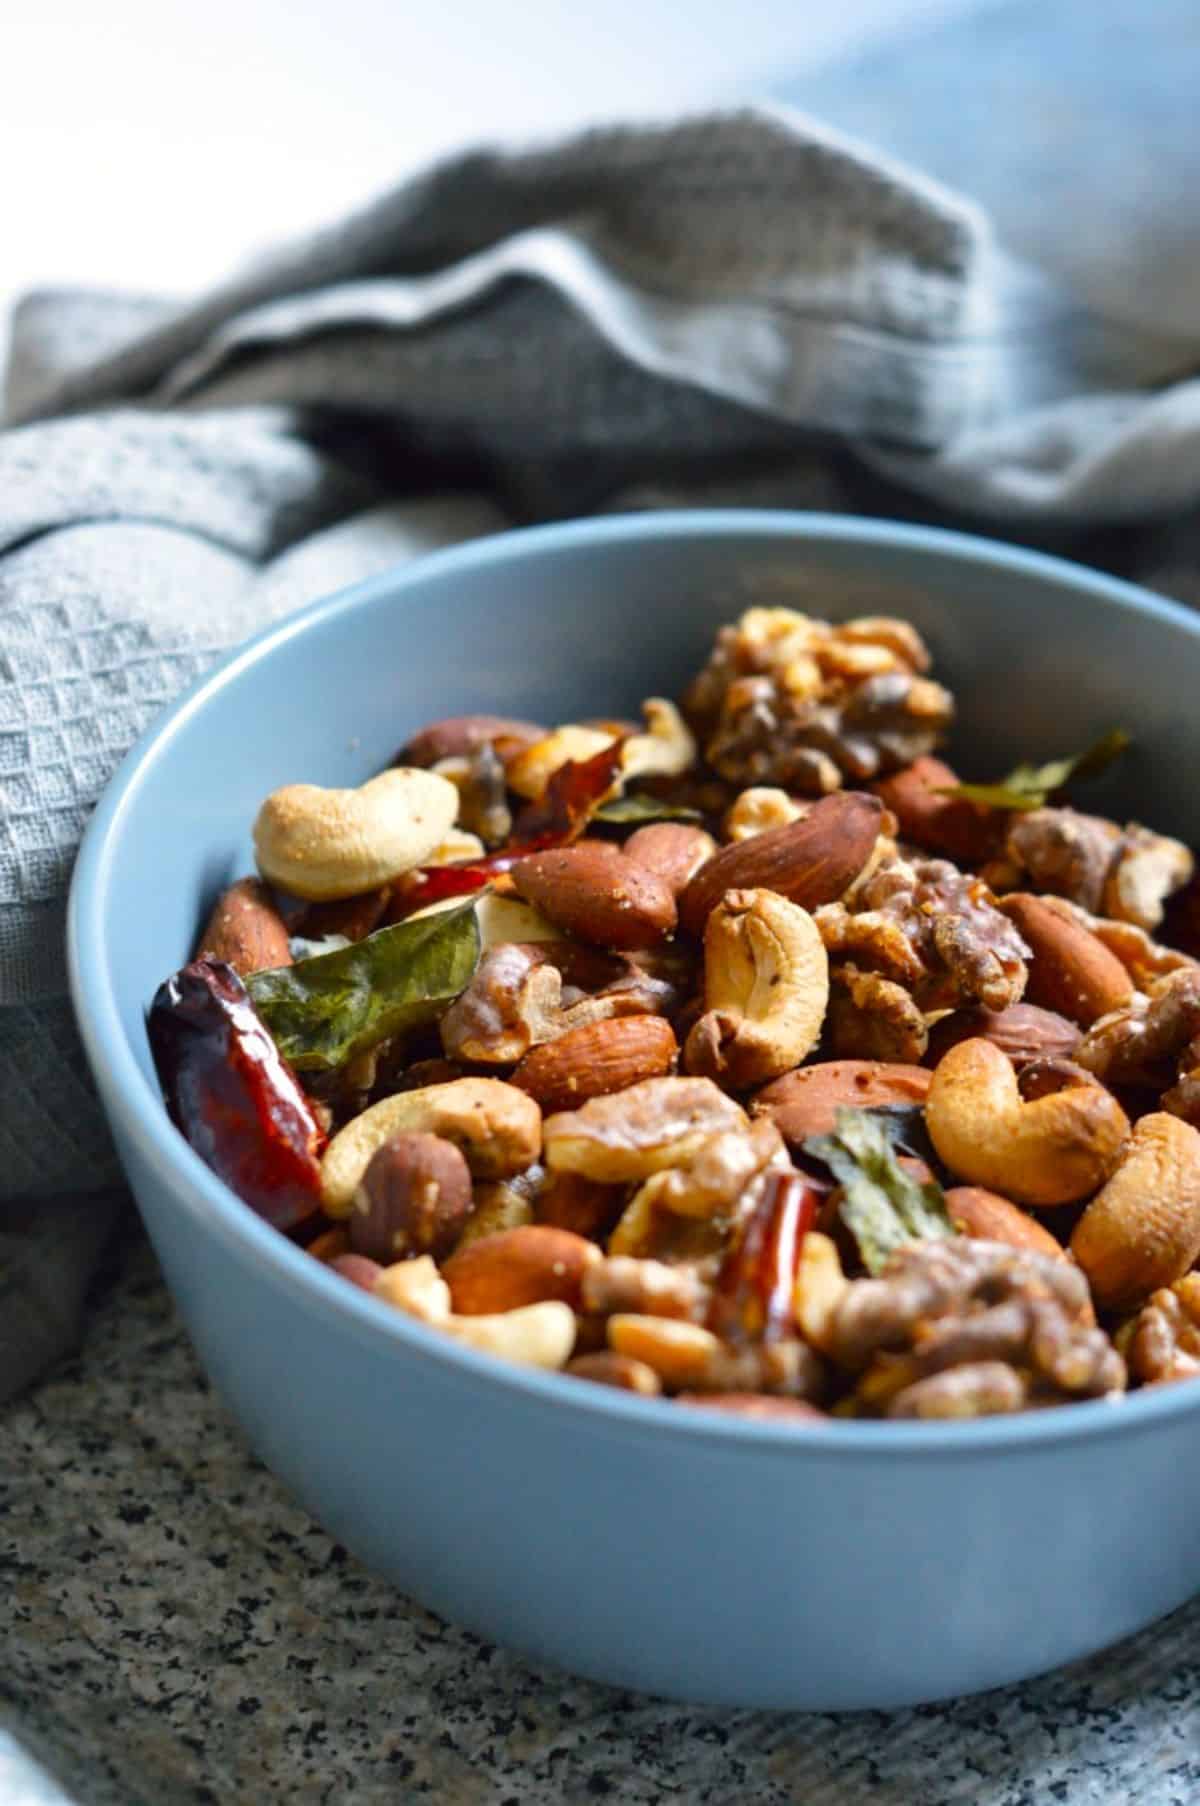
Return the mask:
{"type": "Polygon", "coordinates": [[[779,1342],[795,1335],[795,1268],[822,1196],[824,1188],[802,1172],[768,1174],[763,1196],[721,1262],[708,1329],[727,1342],[779,1342]]]}

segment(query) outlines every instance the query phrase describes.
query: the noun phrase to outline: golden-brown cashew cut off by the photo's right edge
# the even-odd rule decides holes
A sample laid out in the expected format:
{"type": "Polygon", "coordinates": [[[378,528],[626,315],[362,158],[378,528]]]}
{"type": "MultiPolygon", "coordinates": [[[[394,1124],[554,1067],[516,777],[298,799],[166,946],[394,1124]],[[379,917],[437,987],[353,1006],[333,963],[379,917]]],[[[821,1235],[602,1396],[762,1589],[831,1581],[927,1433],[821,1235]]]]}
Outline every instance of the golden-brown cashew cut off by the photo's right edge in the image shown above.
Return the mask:
{"type": "Polygon", "coordinates": [[[1200,1255],[1200,1132],[1166,1111],[1142,1116],[1070,1248],[1104,1309],[1182,1279],[1200,1255]]]}

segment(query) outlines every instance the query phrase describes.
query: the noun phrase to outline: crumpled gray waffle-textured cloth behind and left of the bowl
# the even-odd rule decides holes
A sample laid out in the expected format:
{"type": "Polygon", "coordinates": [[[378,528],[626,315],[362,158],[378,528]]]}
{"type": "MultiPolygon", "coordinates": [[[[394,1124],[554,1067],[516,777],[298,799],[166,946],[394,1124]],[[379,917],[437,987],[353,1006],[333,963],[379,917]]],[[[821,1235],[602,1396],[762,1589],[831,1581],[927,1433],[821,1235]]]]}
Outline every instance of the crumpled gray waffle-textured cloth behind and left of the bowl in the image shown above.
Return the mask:
{"type": "Polygon", "coordinates": [[[1025,536],[1175,509],[1122,556],[1196,594],[1200,383],[1117,386],[1135,363],[972,204],[779,108],[457,157],[190,305],[27,298],[0,433],[0,1232],[25,1250],[0,1396],[69,1345],[119,1187],[65,997],[72,858],[183,684],[427,547],[665,500],[942,502],[1025,536]],[[25,1201],[78,1194],[34,1257],[25,1201]]]}

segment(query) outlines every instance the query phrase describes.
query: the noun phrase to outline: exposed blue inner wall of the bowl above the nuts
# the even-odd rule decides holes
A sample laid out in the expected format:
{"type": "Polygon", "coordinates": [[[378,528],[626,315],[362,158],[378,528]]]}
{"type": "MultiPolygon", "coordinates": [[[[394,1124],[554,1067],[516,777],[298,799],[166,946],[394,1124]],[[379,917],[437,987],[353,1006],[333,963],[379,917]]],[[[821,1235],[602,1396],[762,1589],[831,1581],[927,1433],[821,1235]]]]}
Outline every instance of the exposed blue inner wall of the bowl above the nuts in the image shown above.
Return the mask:
{"type": "Polygon", "coordinates": [[[750,603],[914,621],[958,697],[951,757],[972,777],[1126,726],[1133,751],[1088,796],[1200,838],[1200,627],[1182,609],[983,542],[820,517],[638,517],[477,542],[262,636],[132,755],[89,836],[107,856],[87,901],[155,1107],[143,1010],[219,889],[253,870],[249,825],[271,789],[358,784],[437,715],[636,712],[678,695],[750,603]]]}

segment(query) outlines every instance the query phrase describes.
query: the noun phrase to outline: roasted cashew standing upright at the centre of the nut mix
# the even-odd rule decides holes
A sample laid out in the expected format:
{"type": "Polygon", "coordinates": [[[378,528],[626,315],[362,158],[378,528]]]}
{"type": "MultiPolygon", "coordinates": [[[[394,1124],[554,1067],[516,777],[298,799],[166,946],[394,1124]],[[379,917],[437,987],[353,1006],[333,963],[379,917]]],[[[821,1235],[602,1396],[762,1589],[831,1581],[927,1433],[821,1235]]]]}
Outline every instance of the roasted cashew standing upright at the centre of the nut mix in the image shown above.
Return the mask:
{"type": "Polygon", "coordinates": [[[687,1067],[736,1091],[790,1073],[811,1053],[830,1002],[817,923],[775,890],[727,890],[705,925],[705,1015],[687,1067]]]}

